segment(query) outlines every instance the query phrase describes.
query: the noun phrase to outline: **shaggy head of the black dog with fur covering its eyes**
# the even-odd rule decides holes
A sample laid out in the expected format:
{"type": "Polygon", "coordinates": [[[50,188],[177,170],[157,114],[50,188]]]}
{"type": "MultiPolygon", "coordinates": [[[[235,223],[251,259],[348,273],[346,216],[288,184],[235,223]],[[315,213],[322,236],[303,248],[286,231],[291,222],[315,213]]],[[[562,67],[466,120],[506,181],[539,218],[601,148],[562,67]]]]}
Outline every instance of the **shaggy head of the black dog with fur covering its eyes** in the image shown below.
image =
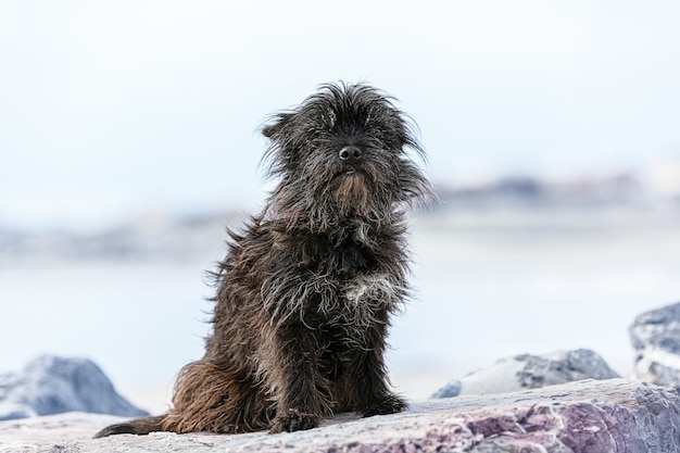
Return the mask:
{"type": "Polygon", "coordinates": [[[327,84],[263,128],[269,175],[286,209],[332,223],[383,216],[430,194],[414,155],[425,159],[414,125],[391,98],[366,85],[327,84]]]}

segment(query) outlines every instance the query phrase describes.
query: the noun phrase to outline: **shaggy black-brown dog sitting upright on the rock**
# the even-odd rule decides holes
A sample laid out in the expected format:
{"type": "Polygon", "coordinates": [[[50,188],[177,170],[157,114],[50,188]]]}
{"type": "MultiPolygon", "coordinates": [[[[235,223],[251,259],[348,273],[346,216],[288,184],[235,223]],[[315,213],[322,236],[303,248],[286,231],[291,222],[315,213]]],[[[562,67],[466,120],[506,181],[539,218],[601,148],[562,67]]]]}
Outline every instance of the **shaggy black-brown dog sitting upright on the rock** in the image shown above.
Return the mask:
{"type": "Polygon", "coordinates": [[[165,415],[97,437],[272,432],[405,407],[383,361],[407,295],[404,207],[431,188],[405,115],[366,85],[324,85],[263,129],[279,184],[215,273],[205,355],[184,367],[165,415]]]}

